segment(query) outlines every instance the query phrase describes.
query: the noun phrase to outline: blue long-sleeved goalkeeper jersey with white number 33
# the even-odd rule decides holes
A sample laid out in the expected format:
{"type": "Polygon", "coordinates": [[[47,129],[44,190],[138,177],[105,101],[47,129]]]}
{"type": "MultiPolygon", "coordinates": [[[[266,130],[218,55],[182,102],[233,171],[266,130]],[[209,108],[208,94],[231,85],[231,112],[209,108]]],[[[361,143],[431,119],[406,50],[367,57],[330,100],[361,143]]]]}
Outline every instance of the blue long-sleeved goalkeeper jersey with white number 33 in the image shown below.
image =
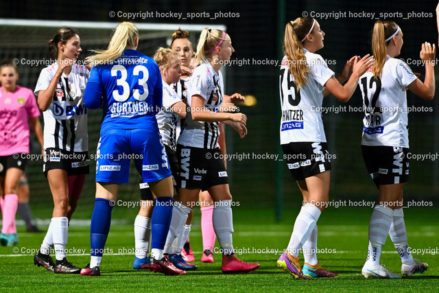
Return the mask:
{"type": "Polygon", "coordinates": [[[84,104],[103,106],[101,134],[109,129],[158,130],[156,113],[162,106],[162,79],[154,59],[126,49],[113,61],[91,69],[84,104]]]}

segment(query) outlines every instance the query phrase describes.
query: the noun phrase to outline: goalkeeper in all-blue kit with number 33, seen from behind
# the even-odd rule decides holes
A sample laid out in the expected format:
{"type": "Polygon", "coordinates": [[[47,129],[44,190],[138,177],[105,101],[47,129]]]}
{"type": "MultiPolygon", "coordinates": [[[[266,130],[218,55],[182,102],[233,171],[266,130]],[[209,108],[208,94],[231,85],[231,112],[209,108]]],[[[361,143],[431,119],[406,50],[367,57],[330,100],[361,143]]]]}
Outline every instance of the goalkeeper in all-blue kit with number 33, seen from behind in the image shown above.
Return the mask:
{"type": "Polygon", "coordinates": [[[91,261],[81,274],[99,276],[120,183],[127,183],[130,157],[143,183],[156,196],[152,213],[150,270],[184,273],[163,257],[173,205],[173,186],[156,113],[162,106],[161,74],[154,59],[136,51],[139,32],[132,23],[117,25],[106,50],[87,58],[93,65],[84,93],[88,108],[104,106],[97,145],[96,199],[91,218],[91,261]]]}

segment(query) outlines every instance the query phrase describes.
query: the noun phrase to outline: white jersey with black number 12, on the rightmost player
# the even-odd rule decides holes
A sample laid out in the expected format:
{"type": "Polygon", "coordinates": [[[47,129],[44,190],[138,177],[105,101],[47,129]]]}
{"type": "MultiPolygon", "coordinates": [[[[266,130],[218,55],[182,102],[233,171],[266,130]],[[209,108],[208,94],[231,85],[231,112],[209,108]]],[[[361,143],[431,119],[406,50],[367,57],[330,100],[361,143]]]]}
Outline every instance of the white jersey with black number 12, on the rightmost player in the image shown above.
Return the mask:
{"type": "Polygon", "coordinates": [[[381,78],[373,77],[372,67],[358,84],[363,95],[362,145],[409,148],[407,94],[405,88],[416,80],[402,60],[386,57],[381,78]]]}

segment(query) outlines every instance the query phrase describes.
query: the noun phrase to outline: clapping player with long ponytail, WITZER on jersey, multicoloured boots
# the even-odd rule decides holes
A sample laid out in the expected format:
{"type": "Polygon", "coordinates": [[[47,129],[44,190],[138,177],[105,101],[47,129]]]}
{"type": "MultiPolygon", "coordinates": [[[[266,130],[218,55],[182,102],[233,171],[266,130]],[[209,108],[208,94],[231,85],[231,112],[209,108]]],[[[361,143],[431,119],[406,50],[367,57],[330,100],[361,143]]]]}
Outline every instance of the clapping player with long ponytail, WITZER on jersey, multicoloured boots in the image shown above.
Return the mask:
{"type": "Polygon", "coordinates": [[[341,102],[348,102],[359,76],[372,64],[372,57],[368,55],[361,60],[353,57],[346,63],[342,75],[335,79],[322,56],[315,53],[323,48],[324,35],[319,23],[310,17],[299,17],[285,27],[285,56],[280,75],[281,145],[305,204],[294,223],[287,250],[277,264],[295,279],[337,276],[320,266],[315,251],[316,222],[329,200],[331,163],[327,157],[322,115],[312,109],[322,106],[324,94],[329,91],[341,102]],[[342,86],[339,80],[348,81],[342,86]],[[303,271],[298,257],[302,246],[305,255],[303,271]]]}

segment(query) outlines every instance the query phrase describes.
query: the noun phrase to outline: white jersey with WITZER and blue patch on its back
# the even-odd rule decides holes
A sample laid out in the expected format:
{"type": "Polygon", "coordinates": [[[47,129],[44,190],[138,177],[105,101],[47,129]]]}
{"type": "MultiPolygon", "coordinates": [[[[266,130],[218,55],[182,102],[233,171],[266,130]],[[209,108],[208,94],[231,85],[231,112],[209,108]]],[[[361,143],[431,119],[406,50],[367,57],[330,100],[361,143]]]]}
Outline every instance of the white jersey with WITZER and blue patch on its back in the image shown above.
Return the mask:
{"type": "Polygon", "coordinates": [[[306,83],[297,91],[294,77],[289,73],[288,60],[281,63],[279,90],[281,95],[281,144],[292,142],[327,142],[322,114],[324,84],[334,75],[322,56],[307,49],[305,58],[311,73],[306,83]]]}

